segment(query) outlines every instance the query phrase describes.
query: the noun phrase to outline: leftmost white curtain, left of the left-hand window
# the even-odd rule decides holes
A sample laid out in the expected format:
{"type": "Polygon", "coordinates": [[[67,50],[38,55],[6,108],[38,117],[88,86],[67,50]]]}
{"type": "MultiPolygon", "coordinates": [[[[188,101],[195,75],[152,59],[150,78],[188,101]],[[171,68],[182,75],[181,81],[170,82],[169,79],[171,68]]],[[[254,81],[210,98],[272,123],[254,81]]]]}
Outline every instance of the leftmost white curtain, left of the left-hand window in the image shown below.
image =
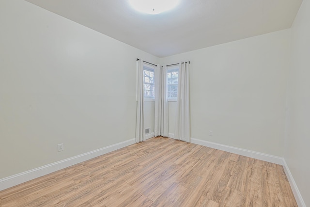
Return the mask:
{"type": "Polygon", "coordinates": [[[145,141],[144,131],[144,90],[143,90],[143,61],[137,59],[137,118],[136,143],[145,141]]]}

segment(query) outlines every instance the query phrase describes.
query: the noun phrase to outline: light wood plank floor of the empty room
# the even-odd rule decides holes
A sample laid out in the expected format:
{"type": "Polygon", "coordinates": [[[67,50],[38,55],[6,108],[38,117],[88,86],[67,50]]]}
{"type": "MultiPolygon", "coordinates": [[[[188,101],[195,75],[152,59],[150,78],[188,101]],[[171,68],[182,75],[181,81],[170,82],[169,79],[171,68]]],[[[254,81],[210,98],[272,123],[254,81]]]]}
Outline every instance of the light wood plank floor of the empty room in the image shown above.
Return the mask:
{"type": "Polygon", "coordinates": [[[297,207],[282,166],[152,138],[0,191],[0,207],[297,207]]]}

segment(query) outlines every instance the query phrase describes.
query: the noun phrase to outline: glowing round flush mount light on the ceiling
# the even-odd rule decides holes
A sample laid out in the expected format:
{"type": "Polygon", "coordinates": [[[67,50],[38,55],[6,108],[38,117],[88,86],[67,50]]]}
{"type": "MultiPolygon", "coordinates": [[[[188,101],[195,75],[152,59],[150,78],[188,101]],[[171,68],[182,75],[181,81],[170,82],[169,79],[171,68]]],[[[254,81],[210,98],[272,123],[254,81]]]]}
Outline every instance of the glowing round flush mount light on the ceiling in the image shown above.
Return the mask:
{"type": "Polygon", "coordinates": [[[176,7],[179,0],[129,0],[129,2],[139,12],[157,15],[176,7]]]}

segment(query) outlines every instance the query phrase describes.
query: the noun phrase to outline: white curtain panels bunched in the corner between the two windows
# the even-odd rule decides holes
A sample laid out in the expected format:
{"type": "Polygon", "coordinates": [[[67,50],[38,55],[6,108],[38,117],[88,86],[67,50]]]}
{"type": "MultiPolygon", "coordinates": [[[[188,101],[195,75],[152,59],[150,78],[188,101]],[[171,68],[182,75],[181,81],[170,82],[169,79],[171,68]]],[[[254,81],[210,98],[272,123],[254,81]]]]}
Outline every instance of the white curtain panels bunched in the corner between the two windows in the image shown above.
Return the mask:
{"type": "Polygon", "coordinates": [[[167,66],[155,67],[154,136],[168,137],[167,66]]]}

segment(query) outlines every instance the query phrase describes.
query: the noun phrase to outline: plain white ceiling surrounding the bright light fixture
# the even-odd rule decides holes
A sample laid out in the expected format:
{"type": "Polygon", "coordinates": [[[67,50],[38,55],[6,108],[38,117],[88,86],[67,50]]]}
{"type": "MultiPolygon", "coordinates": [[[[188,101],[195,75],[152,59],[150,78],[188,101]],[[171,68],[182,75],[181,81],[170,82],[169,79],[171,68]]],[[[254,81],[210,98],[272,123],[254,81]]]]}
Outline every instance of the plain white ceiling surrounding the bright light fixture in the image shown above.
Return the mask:
{"type": "Polygon", "coordinates": [[[158,15],[128,0],[27,0],[95,31],[166,57],[290,28],[302,0],[180,0],[158,15]]]}

